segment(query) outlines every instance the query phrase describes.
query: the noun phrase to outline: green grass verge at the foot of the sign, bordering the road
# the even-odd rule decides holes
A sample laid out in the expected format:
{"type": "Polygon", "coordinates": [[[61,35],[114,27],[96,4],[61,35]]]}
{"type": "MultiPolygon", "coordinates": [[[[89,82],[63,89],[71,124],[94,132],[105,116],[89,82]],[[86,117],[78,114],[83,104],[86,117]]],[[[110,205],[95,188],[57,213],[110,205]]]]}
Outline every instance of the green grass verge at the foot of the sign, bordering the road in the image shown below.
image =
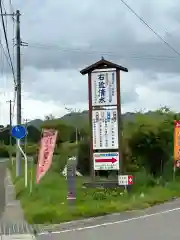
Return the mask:
{"type": "MultiPolygon", "coordinates": [[[[24,188],[24,178],[15,179],[15,169],[11,168],[25,217],[31,224],[56,224],[74,219],[106,215],[114,212],[147,208],[180,196],[180,184],[169,182],[166,186],[135,186],[130,194],[122,189],[86,189],[82,187],[83,178],[77,177],[76,204],[68,206],[67,183],[64,177],[50,170],[39,185],[33,181],[33,192],[24,188]],[[141,196],[144,193],[144,197],[141,196]]],[[[30,173],[28,173],[30,174],[30,173]]],[[[35,167],[33,167],[35,179],[35,167]]],[[[137,179],[138,183],[138,179],[137,179]]]]}

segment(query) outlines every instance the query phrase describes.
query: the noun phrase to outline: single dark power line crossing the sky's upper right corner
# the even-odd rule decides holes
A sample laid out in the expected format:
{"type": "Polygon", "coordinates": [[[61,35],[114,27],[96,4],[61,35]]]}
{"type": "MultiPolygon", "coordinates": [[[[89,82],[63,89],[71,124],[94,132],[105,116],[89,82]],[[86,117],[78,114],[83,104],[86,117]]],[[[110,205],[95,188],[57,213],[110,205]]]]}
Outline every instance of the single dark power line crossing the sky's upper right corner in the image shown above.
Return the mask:
{"type": "Polygon", "coordinates": [[[157,33],[140,15],[138,15],[133,9],[132,7],[127,4],[127,2],[125,2],[124,0],[120,0],[147,28],[149,28],[149,30],[151,32],[154,33],[154,35],[156,35],[156,37],[158,37],[168,48],[170,48],[174,53],[176,53],[178,56],[180,56],[180,53],[173,47],[171,46],[166,40],[164,40],[163,37],[161,37],[161,35],[159,33],[157,33]]]}

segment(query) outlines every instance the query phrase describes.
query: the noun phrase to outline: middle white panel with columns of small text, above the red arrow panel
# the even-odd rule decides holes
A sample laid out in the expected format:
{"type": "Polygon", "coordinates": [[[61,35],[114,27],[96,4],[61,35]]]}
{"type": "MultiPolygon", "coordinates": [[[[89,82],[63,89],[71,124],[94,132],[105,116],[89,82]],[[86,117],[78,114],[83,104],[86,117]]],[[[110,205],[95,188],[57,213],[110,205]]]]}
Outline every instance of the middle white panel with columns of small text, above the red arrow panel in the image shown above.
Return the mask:
{"type": "Polygon", "coordinates": [[[117,109],[92,111],[93,150],[118,149],[117,109]]]}

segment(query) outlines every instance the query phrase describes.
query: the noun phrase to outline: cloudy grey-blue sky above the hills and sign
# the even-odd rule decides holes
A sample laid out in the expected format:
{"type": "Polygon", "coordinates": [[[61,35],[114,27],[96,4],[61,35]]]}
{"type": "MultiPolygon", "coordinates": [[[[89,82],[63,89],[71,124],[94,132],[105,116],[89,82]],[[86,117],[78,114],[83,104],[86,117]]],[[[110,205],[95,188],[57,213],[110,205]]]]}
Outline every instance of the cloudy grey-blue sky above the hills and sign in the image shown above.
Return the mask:
{"type": "MultiPolygon", "coordinates": [[[[180,52],[178,0],[126,2],[180,52]]],[[[8,3],[4,0],[7,10],[8,3]]],[[[12,0],[12,4],[22,13],[22,41],[29,45],[22,48],[23,118],[62,116],[65,106],[87,109],[87,76],[79,71],[102,55],[129,69],[121,77],[123,112],[165,105],[180,111],[180,54],[160,41],[121,0],[12,0]]],[[[9,44],[12,26],[9,20],[9,44]]],[[[7,67],[0,66],[0,78],[0,122],[5,124],[6,101],[13,98],[7,67]]]]}

